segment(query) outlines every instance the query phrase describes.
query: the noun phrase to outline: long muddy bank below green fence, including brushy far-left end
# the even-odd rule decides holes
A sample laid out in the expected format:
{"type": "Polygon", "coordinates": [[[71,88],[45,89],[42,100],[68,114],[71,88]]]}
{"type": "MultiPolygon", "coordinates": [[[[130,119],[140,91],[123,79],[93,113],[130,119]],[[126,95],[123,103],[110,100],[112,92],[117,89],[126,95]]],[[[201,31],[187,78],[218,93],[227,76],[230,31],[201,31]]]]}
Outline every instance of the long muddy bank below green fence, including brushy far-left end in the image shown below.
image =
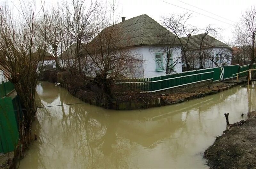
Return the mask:
{"type": "Polygon", "coordinates": [[[111,102],[109,102],[100,90],[86,87],[80,83],[67,83],[63,80],[65,74],[58,73],[56,70],[43,73],[42,81],[55,83],[60,82],[60,86],[66,88],[73,96],[78,97],[82,101],[106,109],[115,110],[133,110],[147,109],[151,107],[159,107],[164,105],[177,104],[191,99],[204,97],[207,95],[216,94],[223,90],[233,88],[243,82],[212,82],[204,81],[191,85],[171,88],[154,93],[140,93],[134,91],[117,92],[114,94],[111,102]]]}

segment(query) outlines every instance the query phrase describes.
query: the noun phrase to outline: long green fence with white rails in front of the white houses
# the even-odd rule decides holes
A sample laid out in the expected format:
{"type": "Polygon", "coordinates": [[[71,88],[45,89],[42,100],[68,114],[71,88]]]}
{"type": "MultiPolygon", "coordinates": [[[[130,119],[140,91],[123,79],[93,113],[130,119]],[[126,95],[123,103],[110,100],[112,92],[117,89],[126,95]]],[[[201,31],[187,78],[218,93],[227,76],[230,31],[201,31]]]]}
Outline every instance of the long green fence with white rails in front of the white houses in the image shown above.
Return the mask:
{"type": "MultiPolygon", "coordinates": [[[[253,65],[253,67],[256,67],[256,65],[253,65]]],[[[125,88],[133,91],[156,92],[202,81],[226,80],[232,78],[233,74],[246,70],[249,70],[249,65],[228,65],[222,67],[182,72],[178,74],[167,74],[152,78],[123,79],[118,80],[116,82],[116,85],[120,88],[125,88]]],[[[239,76],[245,75],[246,73],[241,73],[239,76]]]]}

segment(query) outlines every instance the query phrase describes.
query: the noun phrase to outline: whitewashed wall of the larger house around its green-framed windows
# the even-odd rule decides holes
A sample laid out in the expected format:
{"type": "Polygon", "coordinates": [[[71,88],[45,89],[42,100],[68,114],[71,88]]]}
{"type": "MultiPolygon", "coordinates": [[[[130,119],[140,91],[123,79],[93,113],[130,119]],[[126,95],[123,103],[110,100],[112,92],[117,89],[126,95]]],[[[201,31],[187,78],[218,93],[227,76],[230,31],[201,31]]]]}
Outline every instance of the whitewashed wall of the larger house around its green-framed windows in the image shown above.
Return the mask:
{"type": "MultiPolygon", "coordinates": [[[[140,78],[150,78],[153,76],[165,75],[164,71],[156,71],[156,53],[163,52],[163,48],[155,46],[140,46],[133,47],[132,52],[137,54],[138,58],[143,59],[143,65],[138,72],[140,78]]],[[[163,66],[166,65],[166,55],[163,52],[163,66]]],[[[172,48],[172,58],[176,60],[173,73],[181,73],[181,50],[179,48],[172,48]]],[[[165,68],[165,67],[164,67],[165,68]]]]}

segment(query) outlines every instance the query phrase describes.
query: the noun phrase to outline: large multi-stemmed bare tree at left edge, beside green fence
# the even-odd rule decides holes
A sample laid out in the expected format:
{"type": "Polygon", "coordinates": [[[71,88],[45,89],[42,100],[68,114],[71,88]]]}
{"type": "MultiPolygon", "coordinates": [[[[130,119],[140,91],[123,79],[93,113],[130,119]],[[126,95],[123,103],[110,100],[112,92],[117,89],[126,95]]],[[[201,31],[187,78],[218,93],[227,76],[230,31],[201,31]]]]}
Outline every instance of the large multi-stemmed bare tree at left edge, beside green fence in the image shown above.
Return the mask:
{"type": "Polygon", "coordinates": [[[20,98],[23,110],[23,121],[20,124],[21,143],[24,148],[30,139],[30,127],[36,113],[36,83],[43,62],[44,53],[37,52],[46,49],[43,37],[37,36],[38,24],[35,2],[20,1],[20,18],[12,17],[12,12],[6,6],[0,7],[0,66],[9,74],[9,80],[14,84],[20,98]]]}

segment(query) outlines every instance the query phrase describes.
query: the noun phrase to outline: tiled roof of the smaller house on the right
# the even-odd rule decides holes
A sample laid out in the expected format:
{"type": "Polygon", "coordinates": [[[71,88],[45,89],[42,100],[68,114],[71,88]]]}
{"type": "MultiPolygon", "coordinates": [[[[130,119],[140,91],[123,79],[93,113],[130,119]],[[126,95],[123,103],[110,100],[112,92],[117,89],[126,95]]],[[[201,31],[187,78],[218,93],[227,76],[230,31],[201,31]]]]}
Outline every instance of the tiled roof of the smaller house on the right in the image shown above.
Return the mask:
{"type": "MultiPolygon", "coordinates": [[[[198,50],[200,49],[200,43],[202,41],[202,37],[205,34],[192,35],[189,37],[182,37],[181,39],[186,43],[188,42],[188,50],[198,50]]],[[[211,47],[221,47],[221,48],[229,48],[232,50],[227,44],[220,42],[210,35],[206,35],[203,40],[203,48],[211,48],[211,47]]]]}

